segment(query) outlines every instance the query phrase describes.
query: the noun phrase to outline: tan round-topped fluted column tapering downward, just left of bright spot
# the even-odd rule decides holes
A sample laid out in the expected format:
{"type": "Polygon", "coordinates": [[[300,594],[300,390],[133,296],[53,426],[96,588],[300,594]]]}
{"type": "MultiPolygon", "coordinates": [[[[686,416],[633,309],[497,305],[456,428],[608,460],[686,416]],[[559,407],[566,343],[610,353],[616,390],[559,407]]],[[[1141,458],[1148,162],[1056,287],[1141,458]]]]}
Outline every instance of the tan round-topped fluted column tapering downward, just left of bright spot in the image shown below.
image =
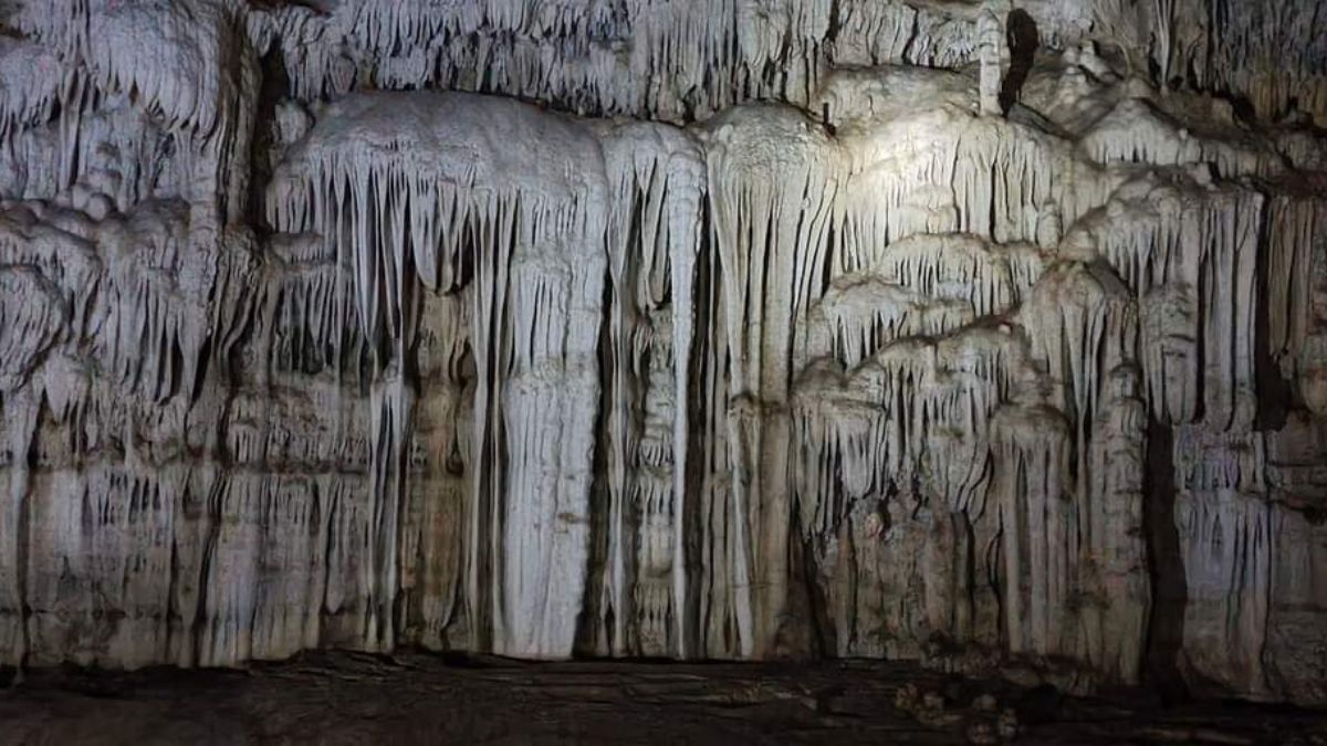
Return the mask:
{"type": "Polygon", "coordinates": [[[790,603],[788,382],[804,344],[794,329],[823,281],[819,252],[839,175],[833,143],[790,112],[734,110],[714,125],[707,146],[731,366],[726,427],[734,471],[723,499],[735,523],[734,652],[764,656],[807,644],[779,629],[790,603]]]}

